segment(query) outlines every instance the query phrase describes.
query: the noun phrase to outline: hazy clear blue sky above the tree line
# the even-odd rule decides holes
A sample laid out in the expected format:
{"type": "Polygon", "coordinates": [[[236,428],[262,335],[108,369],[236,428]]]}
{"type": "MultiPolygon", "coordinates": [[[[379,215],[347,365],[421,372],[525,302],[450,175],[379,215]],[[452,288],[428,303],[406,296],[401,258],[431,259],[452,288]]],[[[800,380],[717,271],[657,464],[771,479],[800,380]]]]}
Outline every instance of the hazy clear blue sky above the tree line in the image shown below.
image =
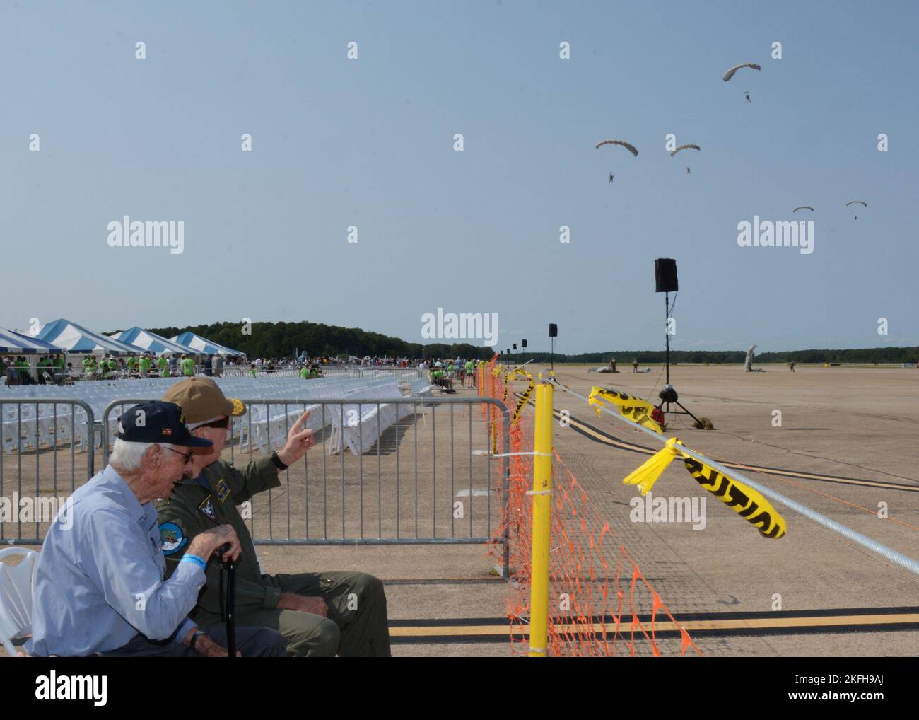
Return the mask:
{"type": "Polygon", "coordinates": [[[657,349],[652,260],[675,257],[676,349],[919,344],[917,4],[0,7],[0,326],[420,342],[439,306],[497,313],[501,349],[548,348],[550,322],[562,352],[657,349]],[[743,62],[763,70],[721,81],[743,62]],[[811,255],[737,246],[801,204],[811,255]],[[125,214],[184,221],[185,252],[109,247],[125,214]]]}

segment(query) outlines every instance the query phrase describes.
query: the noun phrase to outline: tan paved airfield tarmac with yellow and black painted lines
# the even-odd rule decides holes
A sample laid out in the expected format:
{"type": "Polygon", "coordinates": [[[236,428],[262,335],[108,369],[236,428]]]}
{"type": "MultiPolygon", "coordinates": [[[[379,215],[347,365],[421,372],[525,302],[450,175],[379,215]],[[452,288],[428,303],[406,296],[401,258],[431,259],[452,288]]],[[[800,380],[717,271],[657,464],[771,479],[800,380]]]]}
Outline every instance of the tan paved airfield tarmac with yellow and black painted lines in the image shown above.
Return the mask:
{"type": "MultiPolygon", "coordinates": [[[[744,373],[737,365],[675,366],[671,382],[681,402],[709,417],[716,429],[689,429],[691,419],[670,417],[668,434],[720,460],[834,478],[749,473],[811,509],[919,557],[919,371],[799,365],[790,373],[783,366],[762,367],[766,372],[744,373]],[[780,427],[774,425],[776,410],[780,427]],[[880,503],[886,504],[887,519],[879,518],[880,503]]],[[[556,371],[579,394],[599,384],[653,398],[663,386],[657,367],[645,374],[620,368],[615,375],[588,373],[586,366],[556,366],[556,371]]],[[[517,382],[516,389],[522,385],[517,382]]],[[[460,389],[457,396],[473,394],[460,389]]],[[[687,522],[633,522],[630,501],[638,493],[621,481],[648,455],[618,443],[660,446],[612,418],[596,417],[572,395],[556,392],[554,405],[567,409],[574,421],[568,428],[553,426],[562,459],[670,611],[677,618],[695,618],[686,620],[687,627],[694,623],[689,632],[705,655],[916,653],[919,577],[778,503],[788,534],[766,539],[703,491],[678,462],[652,495],[705,497],[704,530],[687,522]]],[[[311,451],[308,473],[294,469],[284,486],[272,491],[270,502],[267,497],[255,501],[255,536],[302,538],[309,518],[310,538],[335,540],[342,537],[343,508],[349,539],[360,536],[362,520],[365,538],[394,537],[397,529],[403,539],[412,538],[415,517],[420,538],[488,536],[499,517],[500,466],[471,454],[486,448],[488,440],[479,409],[471,410],[471,423],[463,414],[469,412],[454,411],[452,457],[450,419],[442,408],[432,417],[430,407],[419,408],[398,433],[388,431],[379,452],[375,446],[361,457],[346,453],[342,458],[311,451]],[[460,519],[456,502],[462,503],[460,519]]],[[[532,412],[531,406],[525,410],[532,412]]],[[[69,473],[69,455],[64,459],[69,473]]],[[[5,494],[13,489],[10,462],[7,455],[5,494]]],[[[24,456],[23,466],[29,463],[34,456],[24,456]]],[[[44,457],[42,463],[45,493],[50,463],[44,457]]],[[[85,463],[85,455],[78,454],[77,463],[85,463]]],[[[24,472],[24,491],[34,488],[34,477],[24,472]]],[[[6,525],[7,536],[11,529],[6,525]]],[[[485,545],[259,545],[258,554],[268,573],[360,569],[383,578],[395,655],[511,652],[508,587],[495,576],[485,545]]],[[[675,642],[662,644],[668,653],[678,651],[675,642]]]]}

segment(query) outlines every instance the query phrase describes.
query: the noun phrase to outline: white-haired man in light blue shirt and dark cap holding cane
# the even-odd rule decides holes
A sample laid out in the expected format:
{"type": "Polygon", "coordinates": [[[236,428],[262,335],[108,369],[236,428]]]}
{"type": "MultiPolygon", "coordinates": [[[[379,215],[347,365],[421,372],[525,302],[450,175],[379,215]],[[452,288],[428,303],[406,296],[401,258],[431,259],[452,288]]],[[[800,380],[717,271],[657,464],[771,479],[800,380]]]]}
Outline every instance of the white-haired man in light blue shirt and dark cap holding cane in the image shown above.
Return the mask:
{"type": "MultiPolygon", "coordinates": [[[[31,652],[37,656],[226,657],[226,631],[205,634],[187,618],[206,581],[205,568],[239,557],[233,527],[221,525],[188,543],[165,579],[163,537],[153,500],[169,497],[191,471],[196,447],[179,406],[154,402],[119,418],[108,467],[80,487],[51,524],[35,568],[31,652]]],[[[181,534],[181,533],[179,533],[181,534]]],[[[239,655],[279,656],[281,634],[236,629],[239,655]]]]}

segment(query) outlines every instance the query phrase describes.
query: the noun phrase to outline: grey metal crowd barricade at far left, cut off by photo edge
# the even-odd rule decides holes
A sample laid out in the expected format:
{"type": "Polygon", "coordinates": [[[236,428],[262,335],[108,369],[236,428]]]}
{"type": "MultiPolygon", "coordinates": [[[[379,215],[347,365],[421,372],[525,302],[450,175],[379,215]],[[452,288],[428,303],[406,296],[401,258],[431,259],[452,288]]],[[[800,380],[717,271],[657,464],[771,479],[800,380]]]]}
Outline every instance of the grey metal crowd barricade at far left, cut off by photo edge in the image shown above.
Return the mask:
{"type": "Polygon", "coordinates": [[[96,474],[93,410],[75,399],[0,397],[0,424],[0,498],[14,516],[0,515],[0,543],[41,544],[51,520],[41,510],[96,474]],[[32,520],[23,520],[26,508],[32,520]]]}

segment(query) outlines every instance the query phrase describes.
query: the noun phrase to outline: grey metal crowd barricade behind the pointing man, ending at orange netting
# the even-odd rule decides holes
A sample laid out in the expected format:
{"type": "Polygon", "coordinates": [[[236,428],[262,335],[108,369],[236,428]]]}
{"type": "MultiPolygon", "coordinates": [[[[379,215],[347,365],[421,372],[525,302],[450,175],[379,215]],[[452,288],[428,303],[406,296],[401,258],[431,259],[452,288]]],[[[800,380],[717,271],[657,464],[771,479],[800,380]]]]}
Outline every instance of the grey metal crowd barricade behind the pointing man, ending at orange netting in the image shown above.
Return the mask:
{"type": "MultiPolygon", "coordinates": [[[[105,462],[115,418],[143,402],[149,400],[119,399],[105,409],[105,462]]],[[[500,400],[346,396],[243,402],[246,413],[233,418],[224,459],[242,455],[251,461],[280,449],[305,409],[311,412],[305,427],[316,437],[316,446],[280,474],[280,487],[241,506],[256,544],[497,542],[505,546],[507,577],[507,524],[501,520],[510,413],[500,400]],[[473,410],[482,404],[495,406],[494,417],[504,426],[498,458],[489,454],[488,428],[479,418],[473,422],[473,410]],[[500,508],[495,496],[502,499],[500,508]],[[495,527],[505,528],[497,538],[495,527]]]]}

